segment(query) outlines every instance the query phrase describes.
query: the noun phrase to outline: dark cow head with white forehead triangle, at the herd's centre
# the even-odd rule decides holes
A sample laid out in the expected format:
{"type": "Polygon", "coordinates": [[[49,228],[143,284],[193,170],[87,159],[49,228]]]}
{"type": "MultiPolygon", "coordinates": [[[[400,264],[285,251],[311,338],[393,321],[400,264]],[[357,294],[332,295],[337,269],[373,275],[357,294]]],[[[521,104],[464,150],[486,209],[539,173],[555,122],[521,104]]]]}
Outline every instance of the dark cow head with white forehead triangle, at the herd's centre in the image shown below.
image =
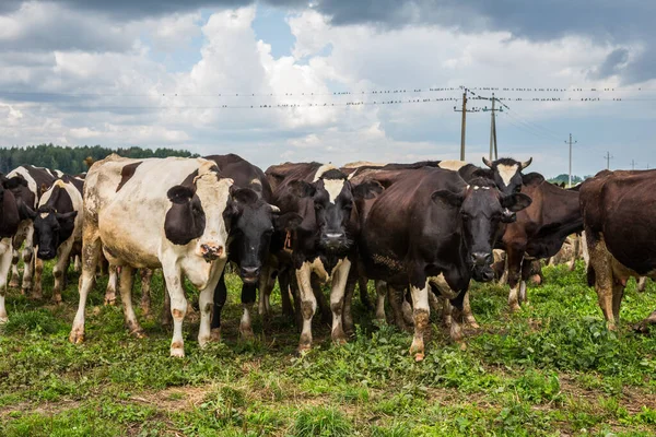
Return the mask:
{"type": "Polygon", "coordinates": [[[312,200],[319,246],[331,252],[343,252],[353,245],[351,212],[353,192],[347,176],[333,168],[323,173],[314,182],[293,180],[292,196],[312,200]]]}

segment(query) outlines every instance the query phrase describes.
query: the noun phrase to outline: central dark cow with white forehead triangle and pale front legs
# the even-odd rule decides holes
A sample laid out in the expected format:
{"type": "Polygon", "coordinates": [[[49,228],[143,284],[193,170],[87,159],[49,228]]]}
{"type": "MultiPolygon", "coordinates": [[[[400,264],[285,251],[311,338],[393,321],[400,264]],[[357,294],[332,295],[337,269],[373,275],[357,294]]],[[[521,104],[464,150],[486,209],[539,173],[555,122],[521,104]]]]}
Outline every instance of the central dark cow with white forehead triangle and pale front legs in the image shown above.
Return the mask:
{"type": "Polygon", "coordinates": [[[312,319],[317,307],[313,277],[331,281],[331,338],[343,343],[344,288],[359,233],[353,186],[330,164],[286,163],[265,173],[273,188],[273,204],[283,213],[301,216],[301,223],[288,228],[285,237],[300,294],[302,332],[297,352],[312,347],[312,319]]]}

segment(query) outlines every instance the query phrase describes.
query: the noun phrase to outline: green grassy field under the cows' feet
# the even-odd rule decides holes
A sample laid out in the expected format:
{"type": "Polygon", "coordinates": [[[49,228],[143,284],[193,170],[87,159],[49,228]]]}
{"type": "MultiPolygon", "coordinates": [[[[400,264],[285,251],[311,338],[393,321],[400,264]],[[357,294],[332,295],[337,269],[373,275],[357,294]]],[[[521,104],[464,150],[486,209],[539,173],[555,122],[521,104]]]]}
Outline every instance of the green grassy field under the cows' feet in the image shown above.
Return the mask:
{"type": "MultiPolygon", "coordinates": [[[[49,271],[44,277],[49,297],[49,271]]],[[[298,336],[277,292],[274,316],[255,317],[257,340],[243,343],[236,277],[223,342],[200,351],[192,317],[184,359],[168,357],[157,275],[157,317],[139,314],[147,339],[127,334],[120,307],[102,305],[105,280],[90,298],[86,342],[72,345],[72,273],[70,283],[58,307],[9,292],[0,436],[656,435],[656,332],[631,331],[656,308],[653,283],[639,294],[631,282],[617,333],[606,330],[583,265],[547,269],[546,285],[529,288],[530,307],[513,316],[505,288],[477,284],[481,329],[468,332],[467,350],[432,315],[419,364],[408,353],[410,334],[373,326],[358,303],[355,339],[332,346],[316,320],[315,350],[295,357],[298,336]]]]}

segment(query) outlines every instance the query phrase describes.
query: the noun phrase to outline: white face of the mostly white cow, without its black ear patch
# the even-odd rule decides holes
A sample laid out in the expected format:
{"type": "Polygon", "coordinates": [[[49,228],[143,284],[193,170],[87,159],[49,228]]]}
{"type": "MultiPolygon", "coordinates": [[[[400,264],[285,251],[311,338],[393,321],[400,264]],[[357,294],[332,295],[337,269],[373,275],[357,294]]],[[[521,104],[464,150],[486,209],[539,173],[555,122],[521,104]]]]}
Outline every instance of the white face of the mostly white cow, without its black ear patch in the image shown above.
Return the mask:
{"type": "Polygon", "coordinates": [[[227,257],[227,229],[223,212],[227,205],[233,180],[219,178],[211,166],[211,163],[203,164],[195,179],[196,196],[200,199],[206,215],[206,227],[198,238],[196,253],[207,257],[210,252],[212,258],[225,259],[227,257]]]}

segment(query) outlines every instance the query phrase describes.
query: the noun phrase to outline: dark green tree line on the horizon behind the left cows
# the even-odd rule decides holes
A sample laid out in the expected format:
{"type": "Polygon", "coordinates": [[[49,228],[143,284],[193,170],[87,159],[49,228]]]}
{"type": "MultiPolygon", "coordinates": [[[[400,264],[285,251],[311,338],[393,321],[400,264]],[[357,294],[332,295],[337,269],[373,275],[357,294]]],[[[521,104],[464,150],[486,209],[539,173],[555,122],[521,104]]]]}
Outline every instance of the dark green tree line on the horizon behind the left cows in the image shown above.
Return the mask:
{"type": "Polygon", "coordinates": [[[0,173],[7,174],[21,165],[34,165],[36,167],[58,169],[69,175],[77,175],[86,172],[85,160],[87,157],[98,161],[112,153],[132,158],[196,156],[189,151],[174,149],[156,149],[153,151],[152,149],[137,146],[108,149],[101,145],[69,147],[50,143],[28,145],[26,147],[13,146],[0,149],[0,173]]]}

